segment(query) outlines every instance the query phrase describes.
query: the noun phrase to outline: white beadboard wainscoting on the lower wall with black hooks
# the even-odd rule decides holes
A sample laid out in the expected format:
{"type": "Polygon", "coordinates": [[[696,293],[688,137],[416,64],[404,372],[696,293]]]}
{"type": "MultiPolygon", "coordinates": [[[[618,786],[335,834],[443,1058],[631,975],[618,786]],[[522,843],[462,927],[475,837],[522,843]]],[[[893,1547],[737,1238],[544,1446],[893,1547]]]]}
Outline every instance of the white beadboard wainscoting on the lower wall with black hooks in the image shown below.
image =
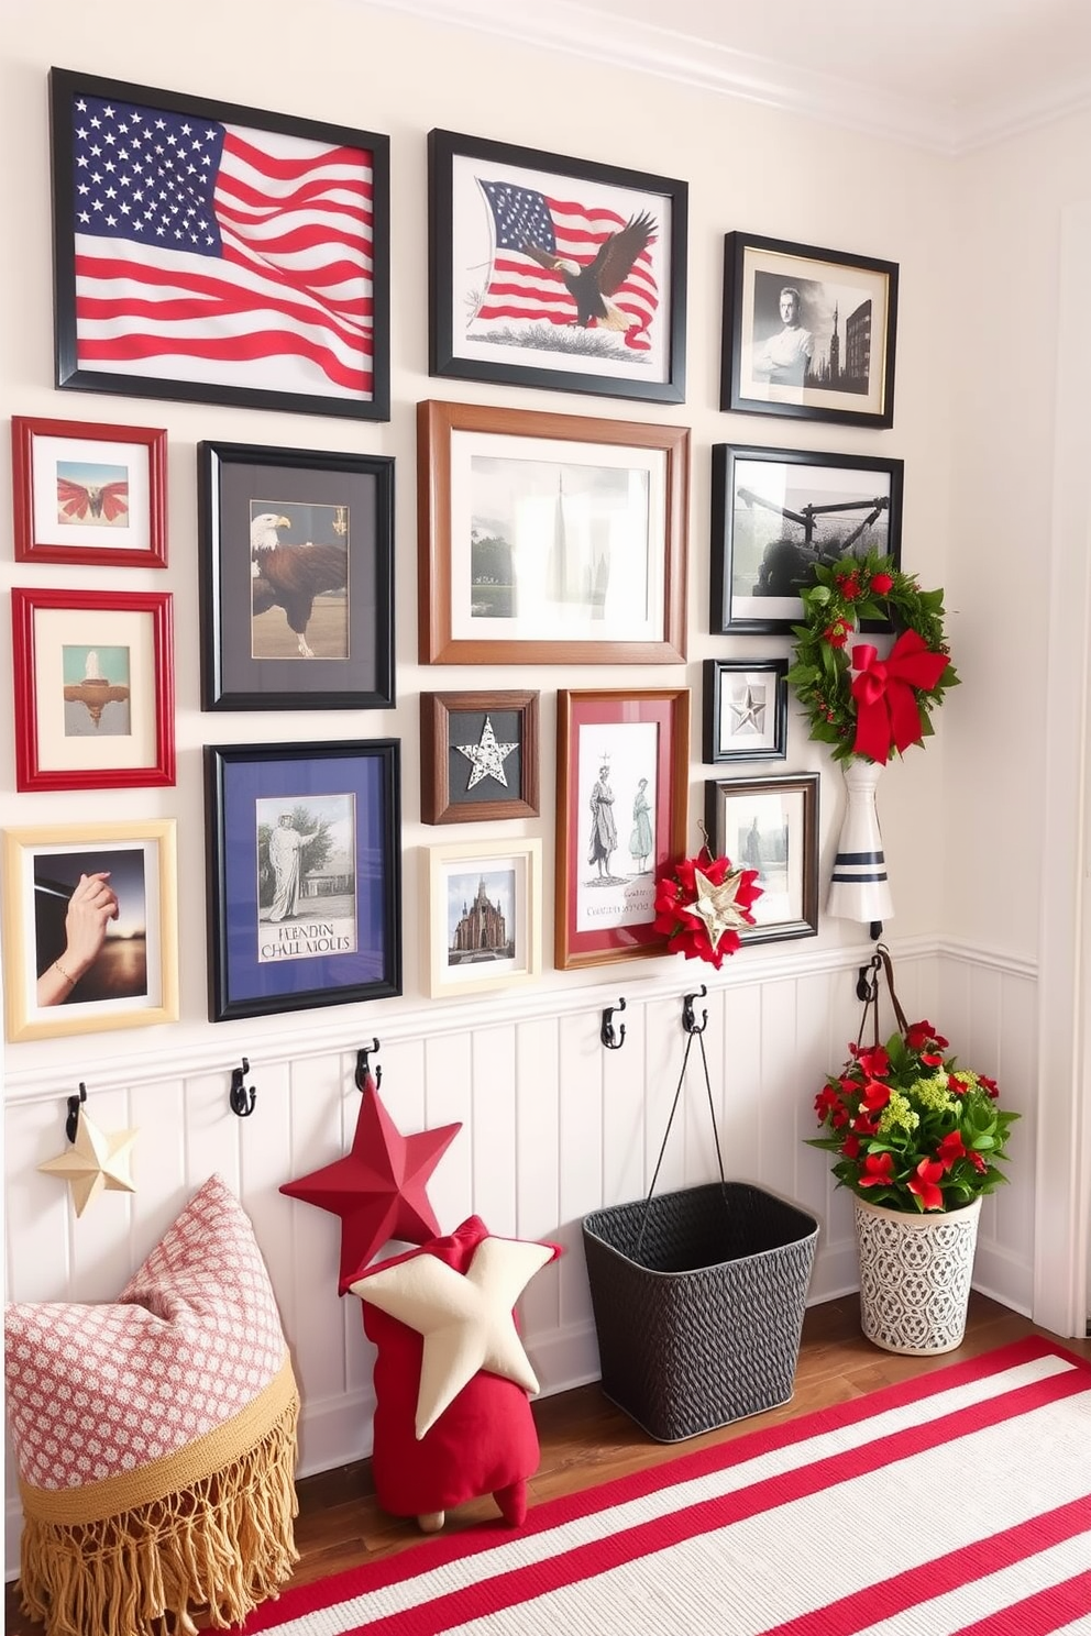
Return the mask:
{"type": "MultiPolygon", "coordinates": [[[[1019,1109],[1012,1184],[985,1201],[975,1286],[1029,1312],[1034,1265],[1034,1063],[1037,982],[1017,962],[949,944],[891,946],[909,1021],[927,1016],[963,1062],[994,1075],[1019,1109]]],[[[88,1042],[88,1112],[105,1130],[137,1127],[136,1194],[106,1193],[75,1219],[69,1191],[38,1165],[64,1148],[79,1085],[11,1075],[7,1086],[7,1292],[11,1301],[110,1301],[213,1173],[239,1194],[265,1253],[303,1392],[299,1476],[371,1448],[371,1346],[360,1306],[337,1296],[340,1224],[290,1199],[280,1183],[347,1152],[360,1093],[357,1047],[379,1037],[381,1096],[402,1132],[461,1121],[429,1183],[442,1229],[479,1214],[492,1232],[551,1238],[561,1260],[520,1302],[543,1392],[597,1379],[581,1219],[646,1193],[679,1081],[682,996],[703,1032],[725,1171],[790,1198],[819,1220],[810,1301],[855,1289],[851,1196],[828,1155],[808,1148],[813,1098],[855,1039],[859,962],[867,946],[725,962],[682,960],[671,978],[618,965],[610,987],[512,995],[491,1006],[425,1006],[383,1016],[353,1008],[334,1026],[278,1034],[257,1022],[247,1049],[250,1117],[231,1111],[229,1058],[213,1034],[186,1062],[101,1057],[88,1042]],[[602,1011],[625,998],[607,1050],[602,1011]],[[363,1018],[363,1021],[360,1021],[363,1018]],[[358,1032],[357,1032],[358,1031],[358,1032]],[[97,1060],[98,1058],[98,1060],[97,1060]]],[[[268,1022],[272,1019],[265,1019],[268,1022]]],[[[893,1026],[883,1009],[883,1032],[893,1026]]],[[[716,1176],[697,1044],[656,1191],[716,1176]]],[[[7,1574],[18,1567],[20,1508],[8,1459],[7,1574]]]]}

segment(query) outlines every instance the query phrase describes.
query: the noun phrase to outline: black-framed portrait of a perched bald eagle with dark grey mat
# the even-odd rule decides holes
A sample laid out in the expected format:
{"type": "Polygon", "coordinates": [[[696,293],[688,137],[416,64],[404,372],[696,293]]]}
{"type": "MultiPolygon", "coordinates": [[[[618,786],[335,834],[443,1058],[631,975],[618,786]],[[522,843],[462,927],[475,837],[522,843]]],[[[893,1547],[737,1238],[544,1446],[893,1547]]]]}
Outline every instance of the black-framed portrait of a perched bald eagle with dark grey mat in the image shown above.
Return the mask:
{"type": "Polygon", "coordinates": [[[393,707],[391,455],[198,443],[198,548],[203,710],[393,707]]]}

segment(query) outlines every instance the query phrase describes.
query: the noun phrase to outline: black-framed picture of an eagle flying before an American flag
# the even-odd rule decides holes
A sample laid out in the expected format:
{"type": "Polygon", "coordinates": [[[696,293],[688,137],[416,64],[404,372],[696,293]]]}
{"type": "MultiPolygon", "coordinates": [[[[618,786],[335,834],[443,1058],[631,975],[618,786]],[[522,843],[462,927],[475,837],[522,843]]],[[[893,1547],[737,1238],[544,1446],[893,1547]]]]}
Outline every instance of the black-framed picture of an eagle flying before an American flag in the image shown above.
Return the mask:
{"type": "Polygon", "coordinates": [[[429,373],[685,402],[687,206],[685,182],[430,131],[429,373]],[[608,291],[617,296],[604,308],[608,322],[581,322],[590,280],[579,275],[577,298],[574,267],[597,263],[595,245],[643,216],[658,231],[646,242],[640,231],[622,240],[636,260],[608,291]],[[568,268],[546,265],[523,242],[568,268]]]}

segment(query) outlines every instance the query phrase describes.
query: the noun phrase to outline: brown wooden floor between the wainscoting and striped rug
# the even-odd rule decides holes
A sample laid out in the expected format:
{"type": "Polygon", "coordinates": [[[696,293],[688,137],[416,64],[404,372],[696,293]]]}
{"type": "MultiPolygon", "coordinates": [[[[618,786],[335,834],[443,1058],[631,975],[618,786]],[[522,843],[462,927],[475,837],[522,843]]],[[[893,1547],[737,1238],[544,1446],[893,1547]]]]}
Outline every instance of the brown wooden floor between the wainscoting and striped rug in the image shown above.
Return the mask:
{"type": "MultiPolygon", "coordinates": [[[[878,1391],[914,1374],[942,1369],[959,1358],[1003,1346],[1024,1335],[1047,1335],[1008,1307],[985,1296],[970,1297],[967,1333],[957,1351],[939,1358],[901,1358],[880,1351],[860,1335],[855,1297],[811,1307],[803,1322],[803,1343],[795,1376],[795,1396],[783,1409],[772,1409],[752,1420],[739,1420],[687,1438],[685,1443],[654,1443],[602,1396],[597,1386],[581,1386],[572,1392],[545,1397],[535,1404],[535,1420],[541,1443],[541,1463],[530,1484],[530,1503],[551,1500],[559,1494],[622,1477],[646,1466],[661,1464],[676,1454],[746,1436],[756,1427],[792,1420],[815,1409],[826,1409],[852,1397],[878,1391]]],[[[1058,1340],[1058,1337],[1050,1337],[1058,1340]]],[[[1062,1340],[1063,1346],[1091,1358],[1091,1342],[1062,1340]]],[[[415,1521],[388,1517],[375,1502],[366,1461],[342,1466],[298,1484],[299,1518],[296,1546],[299,1564],[293,1584],[309,1584],[326,1574],[337,1574],[360,1562],[378,1561],[396,1551],[412,1549],[425,1535],[415,1521]]],[[[460,1507],[448,1515],[447,1533],[471,1521],[494,1518],[491,1497],[460,1507]]],[[[18,1611],[15,1585],[5,1593],[5,1631],[10,1636],[41,1636],[43,1626],[18,1611]]]]}

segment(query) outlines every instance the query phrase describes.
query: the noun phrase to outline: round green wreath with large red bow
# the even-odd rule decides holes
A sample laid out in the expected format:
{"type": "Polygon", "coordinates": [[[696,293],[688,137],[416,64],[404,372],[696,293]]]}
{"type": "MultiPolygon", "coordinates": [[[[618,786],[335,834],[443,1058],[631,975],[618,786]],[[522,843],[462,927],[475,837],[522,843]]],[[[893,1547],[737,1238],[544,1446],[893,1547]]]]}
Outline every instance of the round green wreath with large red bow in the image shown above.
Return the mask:
{"type": "Polygon", "coordinates": [[[815,581],[800,594],[803,623],[792,627],[788,685],[806,712],[810,736],[829,744],[834,761],[885,762],[934,731],[932,710],[959,685],[944,635],[944,592],[921,591],[891,556],[875,553],[816,568],[815,581]],[[885,661],[857,635],[862,620],[893,627],[885,661]]]}

